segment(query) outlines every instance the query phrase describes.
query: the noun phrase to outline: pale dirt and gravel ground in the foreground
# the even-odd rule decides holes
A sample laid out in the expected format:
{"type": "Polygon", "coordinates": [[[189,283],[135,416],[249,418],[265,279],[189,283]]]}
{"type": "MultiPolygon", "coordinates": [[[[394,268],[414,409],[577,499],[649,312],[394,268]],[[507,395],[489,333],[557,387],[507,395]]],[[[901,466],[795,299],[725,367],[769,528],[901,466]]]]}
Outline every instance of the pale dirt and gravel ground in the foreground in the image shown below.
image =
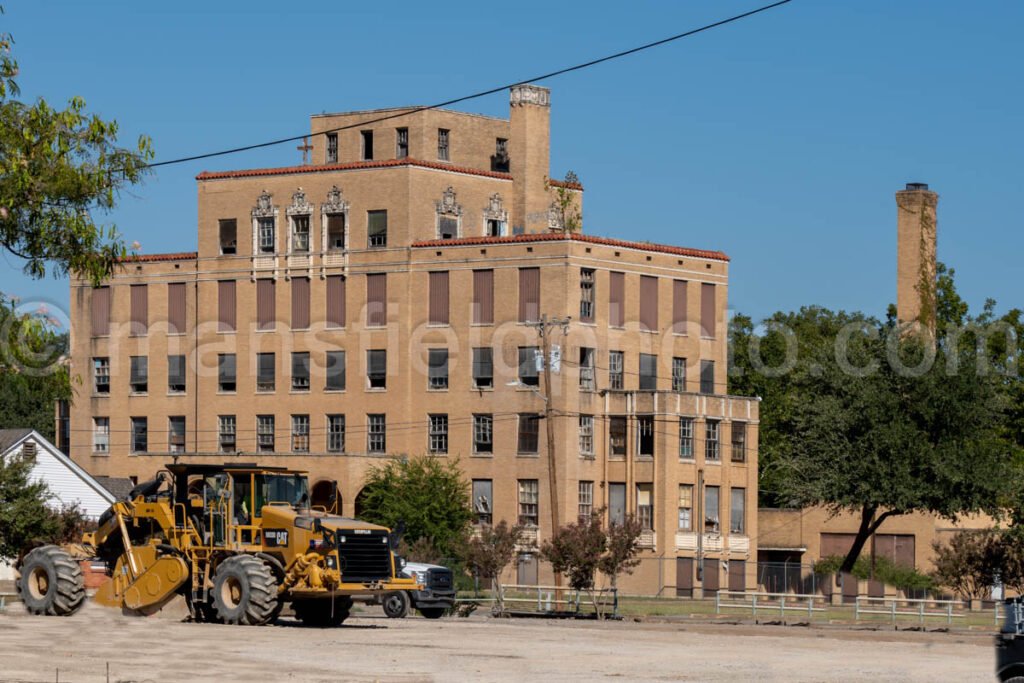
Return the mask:
{"type": "Polygon", "coordinates": [[[0,614],[0,682],[65,681],[991,681],[982,634],[470,618],[338,629],[122,616],[0,614]],[[59,670],[59,671],[58,671],[59,670]]]}

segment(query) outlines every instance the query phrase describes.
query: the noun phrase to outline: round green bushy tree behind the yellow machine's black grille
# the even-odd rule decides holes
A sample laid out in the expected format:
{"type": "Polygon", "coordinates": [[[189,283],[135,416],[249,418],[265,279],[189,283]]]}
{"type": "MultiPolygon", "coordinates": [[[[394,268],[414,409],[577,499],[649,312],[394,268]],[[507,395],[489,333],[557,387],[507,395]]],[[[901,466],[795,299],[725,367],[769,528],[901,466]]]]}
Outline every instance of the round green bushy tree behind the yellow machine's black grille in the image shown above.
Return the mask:
{"type": "Polygon", "coordinates": [[[427,540],[440,556],[455,557],[473,519],[469,499],[458,460],[395,459],[367,473],[360,517],[391,528],[404,522],[411,547],[427,540]]]}

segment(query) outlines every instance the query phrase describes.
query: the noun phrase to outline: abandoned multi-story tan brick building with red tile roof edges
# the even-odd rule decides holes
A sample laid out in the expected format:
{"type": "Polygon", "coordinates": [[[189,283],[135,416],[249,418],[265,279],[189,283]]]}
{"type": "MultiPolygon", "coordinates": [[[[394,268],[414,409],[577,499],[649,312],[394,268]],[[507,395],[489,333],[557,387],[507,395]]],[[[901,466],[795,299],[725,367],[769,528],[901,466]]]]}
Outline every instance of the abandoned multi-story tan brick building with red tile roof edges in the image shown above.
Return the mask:
{"type": "MultiPolygon", "coordinates": [[[[314,503],[337,480],[352,515],[381,459],[459,458],[480,523],[539,541],[552,510],[637,515],[626,590],[752,585],[758,403],[725,395],[728,258],[563,229],[583,187],[548,178],[549,108],[520,86],[509,120],[316,116],[312,163],[202,173],[197,253],[72,284],[74,460],[282,464],[314,503]],[[570,318],[550,386],[543,316],[570,318]]],[[[525,548],[510,573],[550,581],[525,548]]]]}

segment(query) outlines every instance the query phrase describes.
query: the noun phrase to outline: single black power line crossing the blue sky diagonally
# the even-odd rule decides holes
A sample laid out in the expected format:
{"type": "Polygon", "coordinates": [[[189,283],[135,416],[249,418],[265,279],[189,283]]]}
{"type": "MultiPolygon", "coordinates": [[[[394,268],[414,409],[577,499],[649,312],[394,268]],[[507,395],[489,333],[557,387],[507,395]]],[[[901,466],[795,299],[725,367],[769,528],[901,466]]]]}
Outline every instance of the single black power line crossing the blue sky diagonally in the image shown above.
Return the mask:
{"type": "MultiPolygon", "coordinates": [[[[659,47],[662,45],[666,45],[668,43],[672,43],[674,41],[681,40],[683,38],[689,38],[690,36],[694,36],[694,35],[696,35],[698,33],[703,33],[705,31],[711,31],[712,29],[717,29],[717,28],[723,27],[723,26],[725,26],[727,24],[732,24],[733,22],[738,22],[738,20],[744,19],[744,18],[746,18],[749,16],[754,16],[755,14],[760,14],[761,12],[768,11],[769,9],[774,9],[774,8],[779,7],[781,5],[784,5],[784,4],[786,4],[786,3],[791,2],[791,1],[792,0],[779,0],[778,2],[773,2],[770,5],[764,5],[763,7],[758,7],[757,9],[752,9],[752,10],[743,12],[741,14],[736,14],[734,16],[730,16],[728,18],[721,19],[719,22],[715,22],[714,24],[705,25],[705,26],[702,26],[702,27],[700,27],[698,29],[692,29],[692,30],[686,31],[684,33],[676,34],[675,36],[670,36],[668,38],[663,38],[662,40],[656,40],[656,41],[654,41],[652,43],[646,43],[646,44],[640,45],[638,47],[633,47],[633,48],[630,48],[628,50],[623,50],[622,52],[615,52],[614,54],[608,54],[608,55],[605,55],[603,57],[598,57],[597,59],[591,59],[590,61],[585,61],[583,63],[579,63],[579,65],[575,65],[573,67],[566,67],[564,69],[559,69],[557,71],[549,72],[549,73],[543,74],[541,76],[535,76],[532,78],[523,79],[523,80],[520,80],[520,81],[516,81],[514,83],[509,83],[507,85],[502,85],[502,86],[498,86],[498,87],[495,87],[495,88],[489,88],[487,90],[481,90],[480,92],[475,92],[475,93],[470,94],[470,95],[463,95],[462,97],[456,97],[455,99],[447,99],[447,100],[445,100],[443,102],[437,102],[436,104],[430,104],[430,105],[427,105],[427,106],[417,106],[417,108],[414,108],[414,109],[406,111],[406,112],[399,112],[399,113],[396,113],[396,114],[389,114],[387,116],[378,117],[376,119],[371,119],[369,121],[360,121],[359,123],[356,123],[356,124],[350,124],[348,126],[341,126],[340,128],[332,128],[331,130],[323,130],[323,131],[319,131],[316,134],[317,135],[325,135],[327,133],[336,133],[336,132],[339,132],[339,131],[342,131],[342,130],[348,130],[350,128],[360,128],[360,127],[368,126],[370,124],[380,123],[382,121],[389,121],[391,119],[398,119],[400,117],[412,116],[413,114],[419,114],[420,112],[427,112],[429,110],[436,110],[436,109],[440,109],[442,106],[451,106],[452,104],[458,104],[460,102],[465,102],[465,101],[468,101],[470,99],[477,99],[479,97],[484,97],[486,95],[493,95],[495,93],[502,92],[502,91],[508,90],[510,88],[514,88],[515,86],[518,86],[518,85],[526,85],[526,84],[529,84],[529,83],[536,83],[538,81],[545,81],[545,80],[548,80],[548,79],[551,79],[551,78],[555,78],[557,76],[563,76],[565,74],[569,74],[571,72],[582,71],[584,69],[589,69],[590,67],[596,67],[597,65],[603,63],[605,61],[611,61],[612,59],[620,59],[622,57],[629,56],[631,54],[636,54],[637,52],[642,52],[644,50],[649,50],[649,49],[654,48],[654,47],[659,47]]],[[[232,147],[230,150],[222,150],[220,152],[208,152],[206,154],[194,155],[191,157],[181,157],[179,159],[169,159],[167,161],[162,161],[162,162],[156,162],[156,163],[153,163],[153,164],[147,164],[146,167],[147,168],[157,168],[159,166],[170,166],[172,164],[182,164],[184,162],[199,161],[201,159],[210,159],[210,158],[213,158],[213,157],[223,157],[223,156],[226,156],[226,155],[238,154],[240,152],[249,152],[251,150],[260,150],[260,148],[263,148],[263,147],[270,147],[270,146],[274,146],[274,145],[278,145],[278,144],[285,144],[286,142],[296,142],[298,140],[302,140],[302,139],[307,138],[307,137],[311,137],[311,135],[309,133],[305,133],[303,135],[293,135],[291,137],[283,137],[283,138],[280,138],[280,139],[269,140],[269,141],[266,141],[266,142],[257,142],[255,144],[247,144],[247,145],[240,146],[240,147],[232,147]]]]}

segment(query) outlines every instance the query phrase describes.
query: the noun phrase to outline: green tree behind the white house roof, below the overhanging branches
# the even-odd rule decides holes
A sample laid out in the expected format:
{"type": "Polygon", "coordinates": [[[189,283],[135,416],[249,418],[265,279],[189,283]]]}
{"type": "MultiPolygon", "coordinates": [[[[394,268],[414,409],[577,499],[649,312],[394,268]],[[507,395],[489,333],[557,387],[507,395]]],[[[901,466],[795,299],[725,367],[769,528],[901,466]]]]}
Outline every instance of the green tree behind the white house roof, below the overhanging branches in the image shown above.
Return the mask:
{"type": "Polygon", "coordinates": [[[68,335],[45,311],[20,313],[0,294],[0,429],[28,427],[53,439],[53,405],[71,398],[68,335]]]}

